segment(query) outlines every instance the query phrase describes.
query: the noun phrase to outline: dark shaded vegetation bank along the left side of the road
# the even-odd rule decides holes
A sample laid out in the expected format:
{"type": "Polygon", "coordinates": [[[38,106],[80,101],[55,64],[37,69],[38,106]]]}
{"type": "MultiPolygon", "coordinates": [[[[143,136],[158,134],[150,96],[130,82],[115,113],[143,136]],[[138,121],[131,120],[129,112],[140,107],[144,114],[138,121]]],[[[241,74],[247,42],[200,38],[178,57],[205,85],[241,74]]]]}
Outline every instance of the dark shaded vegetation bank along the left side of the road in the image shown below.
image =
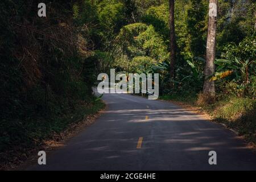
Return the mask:
{"type": "Polygon", "coordinates": [[[0,2],[3,168],[104,108],[92,94],[98,60],[87,60],[94,55],[88,19],[76,21],[62,1],[47,3],[47,18],[39,18],[38,3],[0,2]]]}

